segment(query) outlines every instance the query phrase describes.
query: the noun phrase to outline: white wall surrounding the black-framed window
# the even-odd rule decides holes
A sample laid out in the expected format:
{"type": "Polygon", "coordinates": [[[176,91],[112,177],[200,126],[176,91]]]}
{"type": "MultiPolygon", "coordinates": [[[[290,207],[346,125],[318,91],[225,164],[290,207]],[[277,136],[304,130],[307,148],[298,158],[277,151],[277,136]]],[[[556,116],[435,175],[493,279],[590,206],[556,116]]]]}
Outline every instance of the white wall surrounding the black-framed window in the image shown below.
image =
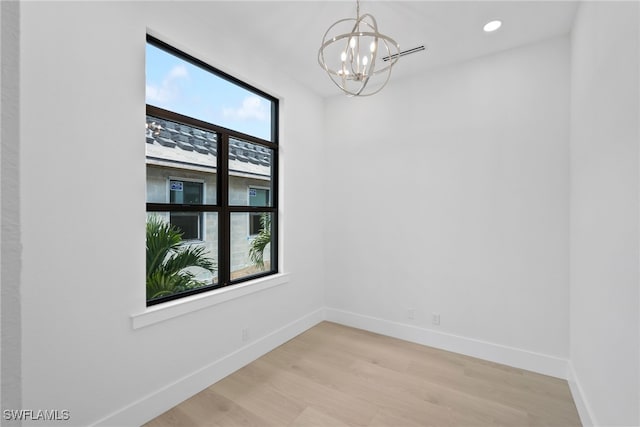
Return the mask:
{"type": "Polygon", "coordinates": [[[226,356],[242,360],[242,328],[251,343],[284,328],[281,338],[323,305],[322,230],[314,224],[322,222],[324,168],[309,160],[322,155],[322,101],[239,44],[236,23],[212,25],[201,7],[212,8],[21,4],[23,408],[67,409],[73,425],[145,421],[187,397],[164,387],[197,391],[185,385],[190,374],[206,368],[198,381],[211,383],[229,368],[226,356]],[[130,316],[145,309],[147,28],[281,97],[281,245],[291,276],[288,284],[133,330],[130,316]],[[212,366],[217,360],[226,365],[212,366]]]}

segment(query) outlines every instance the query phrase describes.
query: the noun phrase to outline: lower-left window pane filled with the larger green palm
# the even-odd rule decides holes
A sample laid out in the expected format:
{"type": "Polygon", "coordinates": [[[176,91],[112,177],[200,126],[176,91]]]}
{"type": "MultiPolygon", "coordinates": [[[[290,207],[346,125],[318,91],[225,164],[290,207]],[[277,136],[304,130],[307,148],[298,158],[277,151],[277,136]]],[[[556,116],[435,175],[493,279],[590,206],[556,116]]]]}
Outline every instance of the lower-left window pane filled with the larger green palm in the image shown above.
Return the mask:
{"type": "Polygon", "coordinates": [[[217,259],[217,213],[147,212],[147,301],[215,285],[217,259]],[[188,220],[174,223],[182,214],[199,218],[199,240],[188,240],[188,220]]]}

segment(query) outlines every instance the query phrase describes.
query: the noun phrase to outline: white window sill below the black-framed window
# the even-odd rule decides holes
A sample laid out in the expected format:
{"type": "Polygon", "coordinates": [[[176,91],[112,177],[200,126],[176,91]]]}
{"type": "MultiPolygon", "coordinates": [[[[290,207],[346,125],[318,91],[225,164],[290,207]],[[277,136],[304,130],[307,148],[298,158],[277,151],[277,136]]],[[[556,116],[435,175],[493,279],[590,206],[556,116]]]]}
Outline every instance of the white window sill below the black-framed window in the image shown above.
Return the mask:
{"type": "Polygon", "coordinates": [[[273,288],[274,286],[284,285],[285,283],[289,283],[289,273],[278,273],[246,283],[216,289],[215,291],[169,301],[164,304],[147,307],[144,312],[132,315],[131,324],[133,329],[144,328],[145,326],[193,313],[194,311],[273,288]]]}

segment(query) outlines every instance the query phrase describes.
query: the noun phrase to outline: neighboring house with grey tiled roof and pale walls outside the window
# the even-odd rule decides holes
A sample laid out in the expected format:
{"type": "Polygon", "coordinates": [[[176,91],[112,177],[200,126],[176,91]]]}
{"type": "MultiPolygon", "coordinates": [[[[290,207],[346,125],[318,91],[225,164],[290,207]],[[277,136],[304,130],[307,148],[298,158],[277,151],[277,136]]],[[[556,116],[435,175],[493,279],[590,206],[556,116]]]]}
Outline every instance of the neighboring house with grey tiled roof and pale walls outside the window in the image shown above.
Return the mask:
{"type": "MultiPolygon", "coordinates": [[[[217,145],[215,135],[184,125],[148,118],[147,138],[147,202],[171,203],[171,184],[176,190],[189,182],[201,183],[202,200],[198,203],[217,202],[217,145]]],[[[258,153],[256,146],[232,139],[229,155],[229,204],[251,206],[250,190],[267,190],[271,194],[270,156],[258,153]],[[251,154],[249,153],[251,151],[251,154]],[[253,156],[253,157],[251,157],[253,156]],[[259,158],[258,158],[259,157],[259,158]]],[[[175,194],[175,193],[174,193],[175,194]]],[[[174,223],[169,212],[153,213],[174,223]]],[[[231,217],[231,272],[240,272],[253,265],[249,259],[249,248],[256,227],[251,227],[251,214],[234,213],[231,217]],[[252,233],[253,232],[253,233],[252,233]]],[[[204,212],[199,216],[197,238],[187,237],[190,244],[203,245],[218,259],[218,216],[215,212],[204,212]]],[[[185,233],[188,234],[188,233],[185,233]]],[[[269,247],[265,249],[264,261],[270,261],[269,247]]],[[[202,269],[199,269],[202,270],[202,269]]],[[[211,274],[194,271],[199,279],[210,280],[211,274]]]]}

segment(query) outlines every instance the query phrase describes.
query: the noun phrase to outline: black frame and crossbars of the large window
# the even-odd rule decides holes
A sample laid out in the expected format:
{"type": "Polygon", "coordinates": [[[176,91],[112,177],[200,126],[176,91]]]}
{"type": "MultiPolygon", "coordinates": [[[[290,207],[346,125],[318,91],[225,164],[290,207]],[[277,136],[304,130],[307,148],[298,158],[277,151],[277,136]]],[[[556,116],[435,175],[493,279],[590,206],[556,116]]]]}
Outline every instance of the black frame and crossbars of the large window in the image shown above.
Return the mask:
{"type": "MultiPolygon", "coordinates": [[[[205,131],[214,132],[217,134],[217,156],[216,156],[216,202],[214,204],[206,203],[206,190],[203,184],[203,203],[199,205],[188,204],[176,204],[170,203],[169,198],[167,203],[146,203],[146,212],[198,212],[201,215],[206,212],[216,212],[218,215],[218,259],[217,262],[217,283],[212,283],[208,286],[203,286],[198,289],[193,289],[187,292],[174,294],[154,300],[147,300],[147,307],[161,304],[168,301],[177,300],[190,295],[199,294],[203,292],[212,291],[215,289],[233,286],[236,284],[248,282],[250,280],[262,278],[265,276],[271,276],[279,273],[278,262],[278,189],[279,189],[279,100],[278,98],[255,88],[223,71],[218,70],[211,65],[194,58],[193,56],[180,51],[179,49],[147,34],[147,43],[154,45],[155,47],[164,50],[168,54],[174,55],[184,61],[190,62],[195,66],[198,66],[205,71],[208,71],[217,77],[223,78],[229,83],[238,85],[256,95],[265,98],[271,102],[271,140],[261,139],[252,135],[248,135],[233,129],[228,129],[223,126],[219,126],[213,123],[205,122],[200,119],[188,117],[180,113],[165,110],[160,107],[146,104],[146,115],[151,117],[157,117],[163,120],[173,121],[175,123],[183,124],[199,128],[205,131]],[[240,139],[252,144],[257,144],[271,150],[271,206],[252,207],[249,206],[247,200],[246,206],[230,205],[229,204],[229,140],[231,138],[240,139]],[[268,271],[243,276],[236,279],[231,279],[231,215],[233,213],[262,213],[269,212],[272,216],[271,224],[271,263],[268,271]]],[[[192,179],[181,179],[183,181],[193,181],[192,179]]],[[[196,180],[197,181],[197,180],[196,180]]],[[[168,191],[170,191],[170,180],[168,181],[168,191]]],[[[204,225],[203,225],[204,226],[204,225]]],[[[203,230],[202,230],[203,231],[203,230]]],[[[247,229],[249,231],[249,229],[247,229]]],[[[204,231],[203,231],[204,232],[204,231]]]]}

